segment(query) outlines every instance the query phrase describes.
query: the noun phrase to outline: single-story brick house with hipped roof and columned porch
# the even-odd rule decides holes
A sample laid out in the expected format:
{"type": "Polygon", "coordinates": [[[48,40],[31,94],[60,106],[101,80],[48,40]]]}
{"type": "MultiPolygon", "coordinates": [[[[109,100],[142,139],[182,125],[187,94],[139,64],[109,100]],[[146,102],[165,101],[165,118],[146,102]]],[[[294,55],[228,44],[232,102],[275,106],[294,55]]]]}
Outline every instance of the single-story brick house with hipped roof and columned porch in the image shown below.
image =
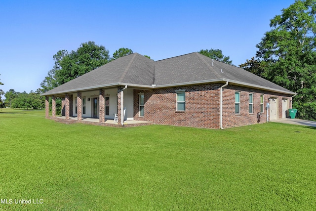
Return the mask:
{"type": "Polygon", "coordinates": [[[258,113],[260,123],[286,118],[295,93],[195,52],[159,61],[133,53],[42,95],[46,118],[57,119],[55,99],[62,97],[64,118],[76,117],[76,122],[94,118],[98,125],[106,125],[118,114],[119,126],[147,121],[229,128],[257,124],[258,113]],[[52,97],[52,117],[48,97],[52,97]]]}

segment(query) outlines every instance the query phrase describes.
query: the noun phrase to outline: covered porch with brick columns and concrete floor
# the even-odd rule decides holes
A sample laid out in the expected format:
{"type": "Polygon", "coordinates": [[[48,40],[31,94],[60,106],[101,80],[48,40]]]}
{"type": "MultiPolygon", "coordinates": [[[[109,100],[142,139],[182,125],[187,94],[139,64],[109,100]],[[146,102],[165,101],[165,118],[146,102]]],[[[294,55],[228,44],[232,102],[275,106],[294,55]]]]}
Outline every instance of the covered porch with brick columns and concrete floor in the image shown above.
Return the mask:
{"type": "Polygon", "coordinates": [[[49,96],[46,96],[45,117],[66,124],[84,123],[113,127],[153,124],[134,120],[133,90],[133,88],[127,89],[127,86],[118,86],[51,95],[51,116],[49,116],[49,96]],[[61,117],[56,116],[57,97],[64,99],[62,102],[64,115],[61,117]],[[115,115],[117,121],[114,121],[115,115]]]}

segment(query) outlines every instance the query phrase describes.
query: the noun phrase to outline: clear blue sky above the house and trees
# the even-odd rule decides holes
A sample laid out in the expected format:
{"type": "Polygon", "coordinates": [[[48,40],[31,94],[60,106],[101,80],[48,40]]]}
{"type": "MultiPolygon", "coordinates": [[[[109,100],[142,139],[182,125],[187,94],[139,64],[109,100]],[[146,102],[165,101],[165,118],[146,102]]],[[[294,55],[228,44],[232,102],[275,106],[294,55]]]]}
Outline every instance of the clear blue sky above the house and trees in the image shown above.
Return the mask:
{"type": "Polygon", "coordinates": [[[94,41],[155,61],[221,49],[255,56],[270,20],[294,0],[0,0],[0,89],[36,90],[58,50],[94,41]]]}

